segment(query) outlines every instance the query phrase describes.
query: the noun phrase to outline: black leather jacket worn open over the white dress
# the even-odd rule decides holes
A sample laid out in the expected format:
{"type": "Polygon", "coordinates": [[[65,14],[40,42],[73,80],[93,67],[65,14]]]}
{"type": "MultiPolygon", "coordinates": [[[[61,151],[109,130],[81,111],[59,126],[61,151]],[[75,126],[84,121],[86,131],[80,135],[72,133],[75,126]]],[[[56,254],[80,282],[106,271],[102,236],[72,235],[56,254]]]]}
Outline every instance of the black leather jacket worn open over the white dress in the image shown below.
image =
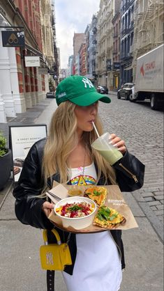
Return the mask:
{"type": "MultiPolygon", "coordinates": [[[[43,190],[44,177],[41,169],[45,141],[46,139],[37,141],[31,147],[31,150],[29,150],[29,154],[24,161],[20,179],[13,190],[13,196],[16,198],[15,214],[17,219],[24,224],[29,224],[36,228],[46,228],[47,230],[51,230],[54,228],[54,224],[47,219],[42,211],[42,205],[45,202],[45,199],[33,197],[39,195],[43,190]]],[[[114,168],[121,191],[134,191],[142,187],[144,182],[144,165],[128,151],[126,151],[124,157],[119,160],[119,164],[114,165],[114,168]]],[[[52,180],[59,182],[59,174],[53,175],[52,180]]],[[[47,181],[47,184],[49,184],[50,188],[52,187],[50,180],[47,181]]],[[[100,177],[98,184],[105,184],[103,175],[100,177]]],[[[108,184],[110,184],[110,182],[108,184]]],[[[57,230],[61,237],[61,241],[66,242],[68,233],[59,228],[57,230]]],[[[110,230],[110,232],[120,251],[122,269],[124,269],[124,246],[121,240],[121,230],[110,230]]],[[[52,235],[51,232],[48,233],[48,241],[50,243],[55,241],[54,235],[52,235]]],[[[75,264],[77,251],[76,236],[73,233],[70,235],[69,248],[73,265],[66,266],[64,271],[68,274],[73,274],[73,266],[75,264]]]]}

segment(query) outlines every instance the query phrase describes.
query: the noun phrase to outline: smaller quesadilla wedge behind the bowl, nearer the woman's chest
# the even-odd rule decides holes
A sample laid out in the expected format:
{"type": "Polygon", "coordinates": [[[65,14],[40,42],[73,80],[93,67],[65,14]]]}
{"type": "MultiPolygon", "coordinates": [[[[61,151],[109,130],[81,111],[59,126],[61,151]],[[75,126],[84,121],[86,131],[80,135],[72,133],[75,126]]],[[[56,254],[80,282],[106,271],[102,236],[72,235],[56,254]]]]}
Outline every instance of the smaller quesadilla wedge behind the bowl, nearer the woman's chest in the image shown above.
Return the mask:
{"type": "Polygon", "coordinates": [[[89,187],[84,191],[84,196],[94,200],[98,206],[102,206],[107,198],[107,189],[98,186],[89,187]]]}

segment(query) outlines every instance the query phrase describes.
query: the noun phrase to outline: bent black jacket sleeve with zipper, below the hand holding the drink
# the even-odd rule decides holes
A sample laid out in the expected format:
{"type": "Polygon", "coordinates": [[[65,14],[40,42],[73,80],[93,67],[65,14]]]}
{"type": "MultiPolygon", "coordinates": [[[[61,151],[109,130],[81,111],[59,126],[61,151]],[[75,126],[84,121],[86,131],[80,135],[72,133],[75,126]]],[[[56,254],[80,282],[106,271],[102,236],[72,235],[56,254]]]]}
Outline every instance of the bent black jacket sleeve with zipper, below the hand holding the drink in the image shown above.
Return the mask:
{"type": "Polygon", "coordinates": [[[144,184],[144,164],[128,150],[117,164],[114,164],[117,183],[121,191],[130,192],[140,189],[144,184]]]}

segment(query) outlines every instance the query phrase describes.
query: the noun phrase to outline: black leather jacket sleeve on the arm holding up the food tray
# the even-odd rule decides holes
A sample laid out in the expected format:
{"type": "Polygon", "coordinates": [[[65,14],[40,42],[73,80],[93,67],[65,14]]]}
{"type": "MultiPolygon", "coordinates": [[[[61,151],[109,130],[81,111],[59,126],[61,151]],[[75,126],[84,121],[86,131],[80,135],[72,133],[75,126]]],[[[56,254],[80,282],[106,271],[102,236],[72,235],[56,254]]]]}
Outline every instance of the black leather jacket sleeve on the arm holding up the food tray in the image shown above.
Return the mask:
{"type": "Polygon", "coordinates": [[[15,214],[24,224],[36,228],[52,229],[53,224],[45,216],[42,205],[45,198],[37,197],[44,186],[44,178],[41,173],[43,157],[43,143],[35,143],[24,161],[20,179],[13,190],[15,200],[15,214]]]}

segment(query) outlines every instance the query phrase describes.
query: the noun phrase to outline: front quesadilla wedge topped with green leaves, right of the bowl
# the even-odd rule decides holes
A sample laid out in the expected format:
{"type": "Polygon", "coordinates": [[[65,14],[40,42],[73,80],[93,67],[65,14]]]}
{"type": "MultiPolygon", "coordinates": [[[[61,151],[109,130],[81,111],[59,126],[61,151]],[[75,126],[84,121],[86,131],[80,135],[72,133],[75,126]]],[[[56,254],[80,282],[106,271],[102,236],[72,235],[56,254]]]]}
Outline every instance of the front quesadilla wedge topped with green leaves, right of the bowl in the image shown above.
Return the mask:
{"type": "Polygon", "coordinates": [[[93,222],[94,226],[108,229],[117,228],[124,223],[126,223],[125,217],[117,212],[117,210],[105,205],[98,209],[93,222]]]}

